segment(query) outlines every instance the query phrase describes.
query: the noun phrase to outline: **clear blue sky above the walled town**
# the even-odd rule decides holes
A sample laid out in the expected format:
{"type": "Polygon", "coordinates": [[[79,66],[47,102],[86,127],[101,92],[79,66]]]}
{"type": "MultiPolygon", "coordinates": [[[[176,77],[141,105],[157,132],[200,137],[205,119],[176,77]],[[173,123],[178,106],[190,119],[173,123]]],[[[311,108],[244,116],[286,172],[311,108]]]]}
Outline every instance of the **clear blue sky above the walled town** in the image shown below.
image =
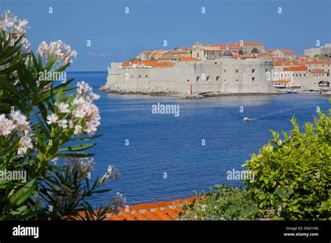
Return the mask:
{"type": "Polygon", "coordinates": [[[29,21],[31,50],[43,40],[71,45],[78,57],[68,71],[106,71],[112,61],[143,50],[197,40],[259,41],[297,54],[316,47],[316,40],[331,43],[331,0],[0,0],[0,8],[29,21]]]}

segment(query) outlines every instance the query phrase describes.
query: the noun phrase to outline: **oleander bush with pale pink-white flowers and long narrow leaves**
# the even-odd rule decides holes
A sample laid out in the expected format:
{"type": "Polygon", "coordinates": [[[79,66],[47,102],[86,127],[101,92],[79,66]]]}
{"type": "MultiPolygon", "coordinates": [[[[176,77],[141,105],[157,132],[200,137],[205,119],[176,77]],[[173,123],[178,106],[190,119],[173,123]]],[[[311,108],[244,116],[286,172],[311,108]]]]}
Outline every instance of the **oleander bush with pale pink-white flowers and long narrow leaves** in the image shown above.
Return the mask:
{"type": "Polygon", "coordinates": [[[118,178],[112,165],[103,177],[91,176],[94,154],[86,151],[100,136],[99,97],[84,81],[57,80],[75,50],[43,42],[36,57],[27,29],[27,20],[0,15],[0,220],[104,219],[125,199],[117,193],[109,205],[91,205],[118,178]],[[4,177],[8,172],[26,176],[4,177]]]}

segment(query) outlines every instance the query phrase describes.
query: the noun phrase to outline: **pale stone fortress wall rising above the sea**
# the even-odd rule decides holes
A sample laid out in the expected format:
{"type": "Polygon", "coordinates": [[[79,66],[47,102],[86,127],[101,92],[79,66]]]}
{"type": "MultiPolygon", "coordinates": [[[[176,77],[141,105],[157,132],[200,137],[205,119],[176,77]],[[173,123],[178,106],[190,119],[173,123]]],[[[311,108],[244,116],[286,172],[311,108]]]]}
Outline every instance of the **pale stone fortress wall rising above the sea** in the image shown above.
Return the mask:
{"type": "Polygon", "coordinates": [[[124,92],[145,93],[168,89],[176,94],[221,92],[223,94],[274,94],[271,59],[221,58],[206,61],[175,62],[171,67],[122,67],[112,63],[105,87],[124,92]]]}

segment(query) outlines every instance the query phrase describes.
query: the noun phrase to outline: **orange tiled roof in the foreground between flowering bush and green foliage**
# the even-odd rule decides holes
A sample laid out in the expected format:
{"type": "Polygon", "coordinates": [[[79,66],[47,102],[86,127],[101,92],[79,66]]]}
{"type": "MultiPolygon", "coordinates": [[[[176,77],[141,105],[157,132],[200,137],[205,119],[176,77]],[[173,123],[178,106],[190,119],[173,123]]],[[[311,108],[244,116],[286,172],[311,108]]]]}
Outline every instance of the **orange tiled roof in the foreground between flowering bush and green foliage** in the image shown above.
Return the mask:
{"type": "Polygon", "coordinates": [[[172,200],[169,202],[153,202],[149,204],[140,204],[126,207],[126,210],[119,208],[119,214],[108,214],[105,220],[140,220],[140,221],[159,221],[159,220],[177,220],[182,205],[191,203],[194,198],[183,200],[172,200]]]}

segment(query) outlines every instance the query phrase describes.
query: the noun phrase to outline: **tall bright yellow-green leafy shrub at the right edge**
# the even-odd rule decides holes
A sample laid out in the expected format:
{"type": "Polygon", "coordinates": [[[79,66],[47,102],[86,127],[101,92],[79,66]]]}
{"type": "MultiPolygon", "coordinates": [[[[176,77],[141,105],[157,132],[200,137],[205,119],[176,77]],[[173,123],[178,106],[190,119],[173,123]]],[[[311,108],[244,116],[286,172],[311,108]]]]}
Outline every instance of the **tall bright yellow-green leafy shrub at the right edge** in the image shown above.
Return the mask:
{"type": "Polygon", "coordinates": [[[331,219],[331,122],[319,115],[313,124],[304,124],[283,133],[272,131],[273,140],[253,154],[244,166],[254,172],[253,182],[244,182],[263,213],[274,209],[276,219],[331,219]]]}

